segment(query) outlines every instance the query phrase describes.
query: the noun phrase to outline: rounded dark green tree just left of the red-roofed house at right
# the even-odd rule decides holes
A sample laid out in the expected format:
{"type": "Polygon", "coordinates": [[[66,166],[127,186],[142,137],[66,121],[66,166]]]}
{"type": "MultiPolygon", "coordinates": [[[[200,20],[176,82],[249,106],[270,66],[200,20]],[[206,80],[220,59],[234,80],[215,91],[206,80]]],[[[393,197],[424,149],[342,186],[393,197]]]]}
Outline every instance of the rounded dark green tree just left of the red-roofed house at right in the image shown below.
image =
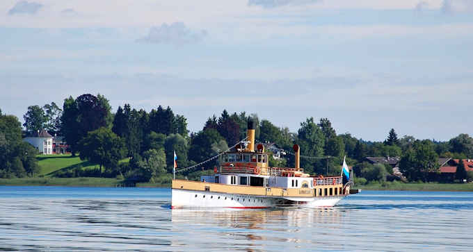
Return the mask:
{"type": "Polygon", "coordinates": [[[438,172],[439,168],[438,155],[428,140],[416,140],[399,161],[399,170],[410,181],[426,181],[428,172],[438,172]]]}

